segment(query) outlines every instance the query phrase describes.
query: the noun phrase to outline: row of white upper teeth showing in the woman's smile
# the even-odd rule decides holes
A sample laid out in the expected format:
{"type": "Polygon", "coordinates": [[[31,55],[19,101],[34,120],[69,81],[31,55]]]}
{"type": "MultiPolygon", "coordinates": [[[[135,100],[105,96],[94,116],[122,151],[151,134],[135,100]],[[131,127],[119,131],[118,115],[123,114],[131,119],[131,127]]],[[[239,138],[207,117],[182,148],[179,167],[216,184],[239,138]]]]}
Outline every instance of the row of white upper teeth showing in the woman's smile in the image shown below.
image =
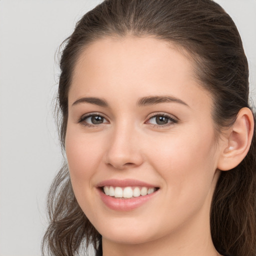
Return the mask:
{"type": "Polygon", "coordinates": [[[146,195],[146,194],[151,194],[156,190],[155,187],[130,187],[130,186],[126,186],[126,187],[113,187],[113,186],[104,186],[103,187],[103,191],[106,195],[109,196],[114,196],[116,198],[131,198],[133,197],[137,197],[140,195],[146,195]]]}

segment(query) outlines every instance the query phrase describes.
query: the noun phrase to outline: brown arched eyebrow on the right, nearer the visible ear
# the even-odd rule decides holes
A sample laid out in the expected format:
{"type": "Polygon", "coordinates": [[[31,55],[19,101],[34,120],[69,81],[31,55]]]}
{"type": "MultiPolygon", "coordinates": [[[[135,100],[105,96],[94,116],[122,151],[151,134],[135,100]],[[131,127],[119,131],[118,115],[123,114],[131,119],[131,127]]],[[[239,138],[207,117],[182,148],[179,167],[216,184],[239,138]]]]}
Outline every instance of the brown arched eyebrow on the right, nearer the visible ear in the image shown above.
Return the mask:
{"type": "Polygon", "coordinates": [[[168,95],[142,97],[137,101],[137,105],[146,106],[146,105],[154,105],[154,104],[163,103],[163,102],[176,102],[189,107],[189,105],[184,101],[182,101],[181,99],[173,96],[168,96],[168,95]]]}

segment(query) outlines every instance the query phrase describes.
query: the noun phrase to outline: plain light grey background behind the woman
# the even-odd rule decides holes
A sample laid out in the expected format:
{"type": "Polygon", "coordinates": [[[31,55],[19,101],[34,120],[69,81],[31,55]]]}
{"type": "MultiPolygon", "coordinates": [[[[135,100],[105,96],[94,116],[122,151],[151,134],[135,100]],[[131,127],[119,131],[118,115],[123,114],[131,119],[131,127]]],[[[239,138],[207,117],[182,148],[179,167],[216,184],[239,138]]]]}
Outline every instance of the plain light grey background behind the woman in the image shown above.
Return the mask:
{"type": "MultiPolygon", "coordinates": [[[[62,157],[52,117],[54,55],[98,2],[0,0],[0,256],[40,255],[45,196],[62,157]]],[[[256,0],[217,2],[240,31],[256,98],[256,0]]]]}

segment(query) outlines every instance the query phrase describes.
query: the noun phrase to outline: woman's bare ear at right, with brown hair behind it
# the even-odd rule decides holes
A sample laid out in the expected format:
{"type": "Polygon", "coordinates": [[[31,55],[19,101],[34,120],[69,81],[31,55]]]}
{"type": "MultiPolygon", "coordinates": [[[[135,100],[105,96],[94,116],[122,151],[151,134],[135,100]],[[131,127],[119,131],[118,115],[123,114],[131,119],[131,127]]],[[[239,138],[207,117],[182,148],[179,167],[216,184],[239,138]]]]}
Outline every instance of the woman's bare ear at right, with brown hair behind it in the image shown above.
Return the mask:
{"type": "Polygon", "coordinates": [[[242,161],[249,150],[253,128],[254,121],[251,110],[247,107],[241,108],[235,122],[224,135],[218,169],[230,170],[242,161]]]}

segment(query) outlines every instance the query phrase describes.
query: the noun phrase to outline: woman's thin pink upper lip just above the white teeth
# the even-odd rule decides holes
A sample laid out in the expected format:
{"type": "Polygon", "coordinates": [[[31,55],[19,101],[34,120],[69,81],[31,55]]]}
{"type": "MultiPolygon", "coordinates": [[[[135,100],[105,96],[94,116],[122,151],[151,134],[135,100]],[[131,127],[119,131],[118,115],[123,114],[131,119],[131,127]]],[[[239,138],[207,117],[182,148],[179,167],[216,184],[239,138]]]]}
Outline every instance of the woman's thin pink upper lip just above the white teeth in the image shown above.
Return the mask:
{"type": "Polygon", "coordinates": [[[145,186],[145,187],[158,187],[154,184],[149,184],[144,181],[136,180],[136,179],[107,179],[99,182],[97,187],[102,186],[119,186],[119,187],[126,187],[126,186],[145,186]]]}

